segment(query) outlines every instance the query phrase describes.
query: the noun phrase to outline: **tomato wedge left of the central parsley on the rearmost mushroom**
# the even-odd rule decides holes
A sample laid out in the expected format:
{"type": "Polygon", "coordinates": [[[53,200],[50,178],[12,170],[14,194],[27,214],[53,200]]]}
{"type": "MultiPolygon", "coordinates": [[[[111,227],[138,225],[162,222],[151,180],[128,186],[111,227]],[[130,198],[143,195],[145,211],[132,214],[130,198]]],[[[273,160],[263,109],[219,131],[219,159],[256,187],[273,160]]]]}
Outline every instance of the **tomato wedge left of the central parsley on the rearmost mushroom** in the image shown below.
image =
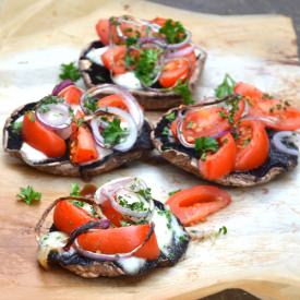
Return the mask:
{"type": "Polygon", "coordinates": [[[107,49],[103,55],[101,59],[107,69],[112,71],[113,74],[125,73],[125,46],[115,46],[107,49]]]}

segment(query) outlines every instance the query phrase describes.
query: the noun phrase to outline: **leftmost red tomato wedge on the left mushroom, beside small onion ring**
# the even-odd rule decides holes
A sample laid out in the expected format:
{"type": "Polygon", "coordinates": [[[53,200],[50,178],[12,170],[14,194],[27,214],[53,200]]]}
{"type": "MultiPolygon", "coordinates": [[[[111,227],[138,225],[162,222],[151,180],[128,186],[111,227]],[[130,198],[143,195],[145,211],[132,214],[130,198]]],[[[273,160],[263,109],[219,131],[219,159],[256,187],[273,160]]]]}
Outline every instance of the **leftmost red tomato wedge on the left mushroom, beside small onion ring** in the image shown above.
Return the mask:
{"type": "Polygon", "coordinates": [[[64,140],[43,125],[33,111],[24,115],[22,137],[24,142],[43,152],[48,157],[61,157],[67,151],[64,140]]]}

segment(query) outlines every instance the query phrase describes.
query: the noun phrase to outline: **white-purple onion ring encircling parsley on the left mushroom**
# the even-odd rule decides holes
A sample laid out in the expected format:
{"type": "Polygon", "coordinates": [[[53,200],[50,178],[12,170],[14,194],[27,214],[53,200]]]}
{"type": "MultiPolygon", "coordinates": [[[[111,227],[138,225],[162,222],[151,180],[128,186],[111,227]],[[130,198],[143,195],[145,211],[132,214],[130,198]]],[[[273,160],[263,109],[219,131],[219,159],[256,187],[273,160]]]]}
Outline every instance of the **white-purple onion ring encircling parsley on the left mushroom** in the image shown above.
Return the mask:
{"type": "Polygon", "coordinates": [[[120,152],[127,152],[130,148],[132,148],[132,146],[134,145],[134,143],[137,139],[137,128],[136,128],[134,120],[131,118],[131,116],[128,112],[125,112],[124,110],[117,108],[117,107],[107,106],[105,108],[97,109],[95,112],[95,117],[91,121],[91,127],[93,130],[94,137],[96,140],[96,143],[101,147],[106,147],[106,148],[112,147],[113,149],[117,149],[120,152]],[[122,120],[124,120],[127,122],[128,135],[123,139],[123,141],[121,143],[112,145],[112,146],[105,144],[105,140],[104,140],[101,132],[99,130],[99,127],[103,124],[103,120],[101,120],[101,117],[96,116],[99,112],[119,116],[119,117],[121,117],[122,120]]]}

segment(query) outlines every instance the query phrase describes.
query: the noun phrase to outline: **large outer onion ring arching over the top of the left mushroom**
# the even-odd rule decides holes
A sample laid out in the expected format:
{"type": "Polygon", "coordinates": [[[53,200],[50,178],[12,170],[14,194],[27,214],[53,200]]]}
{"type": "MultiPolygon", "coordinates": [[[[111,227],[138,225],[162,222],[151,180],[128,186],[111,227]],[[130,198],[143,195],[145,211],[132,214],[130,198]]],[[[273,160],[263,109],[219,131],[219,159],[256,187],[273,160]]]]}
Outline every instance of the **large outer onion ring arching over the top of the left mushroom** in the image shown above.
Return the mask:
{"type": "Polygon", "coordinates": [[[133,118],[134,122],[136,123],[137,131],[140,132],[143,124],[144,124],[144,113],[139,105],[139,103],[135,100],[135,98],[125,89],[120,86],[113,85],[113,84],[103,84],[103,85],[97,85],[95,87],[89,88],[86,91],[82,97],[81,97],[81,107],[82,110],[87,113],[84,103],[89,99],[89,98],[97,98],[99,96],[106,96],[107,94],[117,94],[120,95],[124,104],[127,105],[127,108],[129,110],[129,113],[133,118]]]}

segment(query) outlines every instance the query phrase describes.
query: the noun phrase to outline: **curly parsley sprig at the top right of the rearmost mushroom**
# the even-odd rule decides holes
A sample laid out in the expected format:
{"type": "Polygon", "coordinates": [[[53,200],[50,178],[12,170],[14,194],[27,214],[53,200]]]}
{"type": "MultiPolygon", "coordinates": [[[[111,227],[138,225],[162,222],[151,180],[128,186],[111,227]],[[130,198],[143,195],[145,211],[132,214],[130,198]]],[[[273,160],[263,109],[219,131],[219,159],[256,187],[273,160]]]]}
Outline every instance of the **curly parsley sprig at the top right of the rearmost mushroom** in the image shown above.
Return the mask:
{"type": "Polygon", "coordinates": [[[166,21],[164,26],[159,29],[159,34],[166,37],[168,44],[181,43],[187,37],[183,25],[171,19],[166,21]]]}

